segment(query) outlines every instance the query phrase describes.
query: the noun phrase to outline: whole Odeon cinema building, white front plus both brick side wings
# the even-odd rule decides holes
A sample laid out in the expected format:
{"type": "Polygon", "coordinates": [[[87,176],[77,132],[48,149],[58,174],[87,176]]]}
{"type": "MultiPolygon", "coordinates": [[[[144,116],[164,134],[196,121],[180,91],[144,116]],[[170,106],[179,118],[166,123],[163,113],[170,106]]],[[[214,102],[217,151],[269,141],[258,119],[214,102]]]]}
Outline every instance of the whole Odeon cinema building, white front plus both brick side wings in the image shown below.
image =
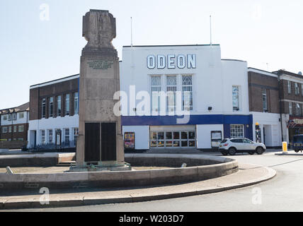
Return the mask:
{"type": "MultiPolygon", "coordinates": [[[[207,150],[235,137],[281,146],[290,97],[280,107],[278,76],[221,59],[219,44],[125,46],[118,107],[125,148],[207,150]]],[[[28,146],[74,147],[78,107],[79,75],[32,85],[28,146]]]]}

